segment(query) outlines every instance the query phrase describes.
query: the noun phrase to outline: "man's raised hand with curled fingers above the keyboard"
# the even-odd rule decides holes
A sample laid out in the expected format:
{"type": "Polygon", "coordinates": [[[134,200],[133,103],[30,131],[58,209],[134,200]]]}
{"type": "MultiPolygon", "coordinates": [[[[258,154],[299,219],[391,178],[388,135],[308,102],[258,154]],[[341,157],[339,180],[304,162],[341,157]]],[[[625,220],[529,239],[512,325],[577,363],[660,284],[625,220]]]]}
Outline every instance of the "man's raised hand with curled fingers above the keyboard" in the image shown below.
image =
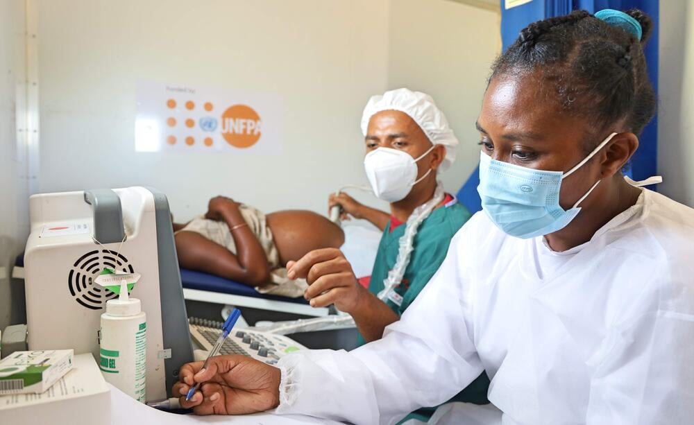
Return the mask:
{"type": "Polygon", "coordinates": [[[299,261],[289,261],[287,276],[289,279],[305,277],[309,287],[304,297],[313,307],[335,304],[340,311],[353,313],[367,292],[337,248],[314,250],[299,261]]]}

